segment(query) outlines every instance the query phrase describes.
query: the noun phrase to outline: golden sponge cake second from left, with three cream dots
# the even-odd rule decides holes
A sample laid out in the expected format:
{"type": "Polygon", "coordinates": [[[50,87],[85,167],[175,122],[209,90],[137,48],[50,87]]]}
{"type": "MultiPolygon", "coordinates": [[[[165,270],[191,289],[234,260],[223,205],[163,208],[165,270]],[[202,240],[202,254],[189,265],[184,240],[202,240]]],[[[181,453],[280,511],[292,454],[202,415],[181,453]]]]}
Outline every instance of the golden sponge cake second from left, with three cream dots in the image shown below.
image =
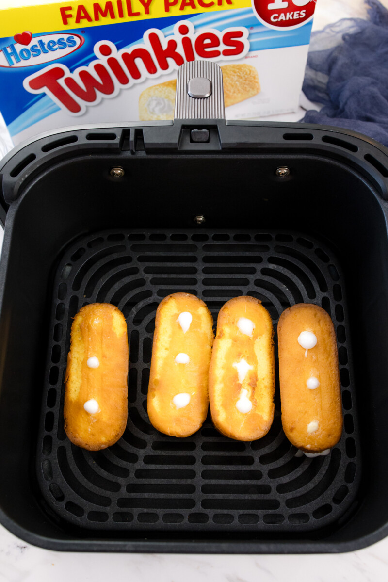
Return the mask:
{"type": "Polygon", "coordinates": [[[213,318],[190,293],[173,293],[156,310],[147,411],[164,434],[188,437],[201,428],[209,406],[208,371],[213,318]]]}

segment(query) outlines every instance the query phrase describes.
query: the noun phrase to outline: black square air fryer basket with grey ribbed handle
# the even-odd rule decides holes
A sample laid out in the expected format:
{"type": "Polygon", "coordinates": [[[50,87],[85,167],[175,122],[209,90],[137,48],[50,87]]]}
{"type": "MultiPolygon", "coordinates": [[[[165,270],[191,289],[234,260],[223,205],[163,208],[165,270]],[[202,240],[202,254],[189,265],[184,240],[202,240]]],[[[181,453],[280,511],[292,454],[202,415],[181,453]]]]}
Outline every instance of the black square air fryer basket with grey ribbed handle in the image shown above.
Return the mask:
{"type": "Polygon", "coordinates": [[[0,511],[35,545],[343,552],[388,534],[388,150],[333,127],[225,122],[218,74],[180,70],[174,122],[63,130],[3,161],[0,511]],[[211,97],[188,97],[198,76],[211,97]],[[295,303],[329,313],[344,430],[328,456],[287,441],[278,384],[258,441],[223,437],[210,417],[184,439],[154,430],[155,311],[179,291],[215,321],[243,294],[275,329],[295,303]],[[63,377],[72,318],[95,301],[127,320],[128,421],[88,452],[66,438],[63,377]]]}

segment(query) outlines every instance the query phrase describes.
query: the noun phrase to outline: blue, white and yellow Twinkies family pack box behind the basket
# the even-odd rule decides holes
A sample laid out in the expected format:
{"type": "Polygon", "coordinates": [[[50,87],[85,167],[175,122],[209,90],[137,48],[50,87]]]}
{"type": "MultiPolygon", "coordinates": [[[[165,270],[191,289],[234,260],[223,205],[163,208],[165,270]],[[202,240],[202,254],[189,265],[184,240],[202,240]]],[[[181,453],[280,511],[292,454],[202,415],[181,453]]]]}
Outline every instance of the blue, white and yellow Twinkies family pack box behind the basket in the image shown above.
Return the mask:
{"type": "Polygon", "coordinates": [[[315,0],[116,0],[0,10],[15,144],[84,123],[172,119],[176,72],[217,62],[227,119],[296,111],[315,0]]]}

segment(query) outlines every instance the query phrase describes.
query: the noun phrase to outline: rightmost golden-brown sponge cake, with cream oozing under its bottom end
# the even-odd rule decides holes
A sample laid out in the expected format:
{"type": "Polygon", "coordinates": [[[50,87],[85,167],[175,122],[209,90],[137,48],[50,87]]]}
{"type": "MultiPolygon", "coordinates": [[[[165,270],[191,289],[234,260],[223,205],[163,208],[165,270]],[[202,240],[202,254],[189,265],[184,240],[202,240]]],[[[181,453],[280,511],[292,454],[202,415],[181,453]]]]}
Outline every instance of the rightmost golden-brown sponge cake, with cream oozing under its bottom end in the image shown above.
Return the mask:
{"type": "Polygon", "coordinates": [[[277,326],[282,424],[305,453],[322,453],[341,438],[343,414],[336,335],[321,307],[301,303],[277,326]]]}

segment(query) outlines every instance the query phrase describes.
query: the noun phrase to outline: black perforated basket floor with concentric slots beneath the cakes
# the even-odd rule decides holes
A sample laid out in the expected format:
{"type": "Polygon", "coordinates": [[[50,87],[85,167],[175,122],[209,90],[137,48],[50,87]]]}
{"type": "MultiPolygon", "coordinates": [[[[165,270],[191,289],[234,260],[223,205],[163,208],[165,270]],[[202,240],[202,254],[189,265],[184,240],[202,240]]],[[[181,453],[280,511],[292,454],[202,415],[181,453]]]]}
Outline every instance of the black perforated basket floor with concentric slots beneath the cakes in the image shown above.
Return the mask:
{"type": "Polygon", "coordinates": [[[361,468],[343,276],[332,251],[311,237],[200,228],[85,237],[66,251],[55,275],[47,362],[37,478],[59,520],[107,532],[284,535],[347,519],[361,468]],[[231,297],[261,299],[275,325],[276,361],[276,325],[285,308],[316,303],[328,311],[344,408],[343,436],[329,456],[296,455],[282,430],[278,380],[275,419],[258,441],[223,437],[209,417],[185,439],[154,430],[146,403],[155,311],[178,291],[201,297],[215,322],[231,297]],[[116,445],[87,452],[65,435],[63,378],[72,318],[95,301],[115,304],[127,320],[128,421],[116,445]]]}

